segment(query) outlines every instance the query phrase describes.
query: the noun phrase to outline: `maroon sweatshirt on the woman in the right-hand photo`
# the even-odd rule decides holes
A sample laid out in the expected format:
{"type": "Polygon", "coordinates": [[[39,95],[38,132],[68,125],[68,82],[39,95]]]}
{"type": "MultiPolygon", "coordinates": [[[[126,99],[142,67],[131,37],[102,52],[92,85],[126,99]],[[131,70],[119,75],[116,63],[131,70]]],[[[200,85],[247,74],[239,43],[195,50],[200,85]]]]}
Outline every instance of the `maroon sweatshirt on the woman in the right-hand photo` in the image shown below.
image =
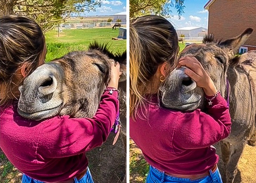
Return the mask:
{"type": "Polygon", "coordinates": [[[147,120],[134,121],[130,117],[130,137],[146,161],[162,171],[179,175],[203,174],[213,168],[219,156],[212,145],[228,137],[231,130],[226,100],[218,94],[211,106],[207,104],[207,114],[200,109],[191,112],[164,109],[159,107],[156,96],[152,100],[147,107],[147,120]]]}

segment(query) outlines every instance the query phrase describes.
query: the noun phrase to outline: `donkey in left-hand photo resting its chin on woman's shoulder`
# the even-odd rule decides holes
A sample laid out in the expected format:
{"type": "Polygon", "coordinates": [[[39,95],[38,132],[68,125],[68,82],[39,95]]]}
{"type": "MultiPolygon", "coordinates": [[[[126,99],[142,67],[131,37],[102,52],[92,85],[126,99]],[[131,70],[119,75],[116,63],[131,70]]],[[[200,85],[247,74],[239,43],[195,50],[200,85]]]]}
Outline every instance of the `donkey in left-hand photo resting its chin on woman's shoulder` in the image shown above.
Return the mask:
{"type": "Polygon", "coordinates": [[[126,51],[113,54],[107,44],[92,43],[89,51],[71,52],[38,67],[20,87],[18,112],[25,118],[92,118],[109,81],[113,60],[120,63],[123,72],[119,83],[122,128],[115,145],[115,134],[111,133],[101,147],[87,152],[89,168],[97,183],[126,181],[126,51]]]}

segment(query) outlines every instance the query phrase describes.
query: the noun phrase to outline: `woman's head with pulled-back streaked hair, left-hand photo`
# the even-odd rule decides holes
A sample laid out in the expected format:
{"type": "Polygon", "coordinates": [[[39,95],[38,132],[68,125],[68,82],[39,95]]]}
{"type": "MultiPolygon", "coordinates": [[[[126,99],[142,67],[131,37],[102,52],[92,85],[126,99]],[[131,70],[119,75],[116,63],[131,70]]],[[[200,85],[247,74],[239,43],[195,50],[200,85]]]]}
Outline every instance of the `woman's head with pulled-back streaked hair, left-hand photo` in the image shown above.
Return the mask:
{"type": "Polygon", "coordinates": [[[0,106],[19,97],[23,79],[44,63],[46,46],[40,26],[27,17],[0,18],[0,106]]]}

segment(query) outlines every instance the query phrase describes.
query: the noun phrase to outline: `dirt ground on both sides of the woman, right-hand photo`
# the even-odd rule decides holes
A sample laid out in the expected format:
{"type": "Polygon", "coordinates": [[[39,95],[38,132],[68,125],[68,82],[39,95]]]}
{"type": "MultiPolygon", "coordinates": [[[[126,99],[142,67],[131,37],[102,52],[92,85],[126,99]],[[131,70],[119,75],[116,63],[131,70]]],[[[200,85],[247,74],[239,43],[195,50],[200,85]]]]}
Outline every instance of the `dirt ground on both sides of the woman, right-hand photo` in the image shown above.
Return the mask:
{"type": "MultiPolygon", "coordinates": [[[[141,151],[130,140],[130,183],[144,183],[148,172],[141,151]]],[[[256,183],[256,147],[246,145],[243,156],[238,163],[238,174],[235,183],[256,183]],[[241,177],[241,181],[239,180],[241,177]]]]}

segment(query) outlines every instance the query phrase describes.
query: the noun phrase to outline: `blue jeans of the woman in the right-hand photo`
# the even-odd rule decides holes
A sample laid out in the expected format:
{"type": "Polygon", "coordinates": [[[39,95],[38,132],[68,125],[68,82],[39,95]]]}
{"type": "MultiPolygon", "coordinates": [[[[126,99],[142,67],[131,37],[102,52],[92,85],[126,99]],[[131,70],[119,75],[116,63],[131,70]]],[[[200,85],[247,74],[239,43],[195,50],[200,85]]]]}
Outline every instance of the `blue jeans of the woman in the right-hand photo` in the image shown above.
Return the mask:
{"type": "Polygon", "coordinates": [[[222,183],[219,170],[214,173],[210,170],[210,175],[200,178],[198,180],[191,180],[189,178],[178,178],[165,174],[152,166],[149,168],[149,173],[146,179],[146,183],[222,183]]]}

